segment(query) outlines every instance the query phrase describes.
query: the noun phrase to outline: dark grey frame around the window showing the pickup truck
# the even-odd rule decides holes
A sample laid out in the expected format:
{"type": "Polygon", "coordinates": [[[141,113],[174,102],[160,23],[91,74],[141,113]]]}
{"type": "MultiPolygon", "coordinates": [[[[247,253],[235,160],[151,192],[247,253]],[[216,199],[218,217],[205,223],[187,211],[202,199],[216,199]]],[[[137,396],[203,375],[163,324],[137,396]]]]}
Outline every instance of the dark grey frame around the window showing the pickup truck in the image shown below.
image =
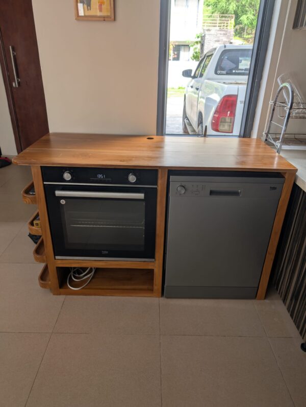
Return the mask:
{"type": "MultiPolygon", "coordinates": [[[[242,113],[240,137],[250,137],[257,106],[260,83],[270,37],[270,28],[275,0],[261,0],[258,12],[258,22],[254,37],[251,64],[245,93],[245,103],[242,113]]],[[[160,2],[160,41],[158,68],[158,102],[157,102],[157,135],[166,134],[167,80],[170,36],[171,0],[160,2]]],[[[203,57],[205,58],[205,57],[203,57]]],[[[177,136],[177,134],[172,134],[177,136]]],[[[186,135],[185,135],[186,136],[186,135]]],[[[190,135],[190,137],[194,137],[190,135]]]]}

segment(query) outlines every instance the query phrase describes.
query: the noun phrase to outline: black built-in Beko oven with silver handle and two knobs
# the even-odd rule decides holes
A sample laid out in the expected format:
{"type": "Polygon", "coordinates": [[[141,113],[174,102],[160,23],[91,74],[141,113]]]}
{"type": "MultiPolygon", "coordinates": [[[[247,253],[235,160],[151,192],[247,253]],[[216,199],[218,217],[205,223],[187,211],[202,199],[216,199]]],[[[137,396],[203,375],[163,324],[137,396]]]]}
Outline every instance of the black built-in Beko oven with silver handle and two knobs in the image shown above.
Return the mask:
{"type": "Polygon", "coordinates": [[[155,258],[157,170],[42,167],[57,259],[155,258]]]}

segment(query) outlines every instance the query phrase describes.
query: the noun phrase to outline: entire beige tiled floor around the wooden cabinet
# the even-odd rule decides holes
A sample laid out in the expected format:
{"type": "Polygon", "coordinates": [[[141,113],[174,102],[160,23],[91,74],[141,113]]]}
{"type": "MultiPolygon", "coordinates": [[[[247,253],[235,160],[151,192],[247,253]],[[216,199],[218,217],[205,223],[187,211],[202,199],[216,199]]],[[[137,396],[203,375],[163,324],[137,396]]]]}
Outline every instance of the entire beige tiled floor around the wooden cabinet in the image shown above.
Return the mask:
{"type": "Polygon", "coordinates": [[[0,406],[306,405],[306,354],[277,293],[265,301],[56,297],[0,169],[0,406]]]}

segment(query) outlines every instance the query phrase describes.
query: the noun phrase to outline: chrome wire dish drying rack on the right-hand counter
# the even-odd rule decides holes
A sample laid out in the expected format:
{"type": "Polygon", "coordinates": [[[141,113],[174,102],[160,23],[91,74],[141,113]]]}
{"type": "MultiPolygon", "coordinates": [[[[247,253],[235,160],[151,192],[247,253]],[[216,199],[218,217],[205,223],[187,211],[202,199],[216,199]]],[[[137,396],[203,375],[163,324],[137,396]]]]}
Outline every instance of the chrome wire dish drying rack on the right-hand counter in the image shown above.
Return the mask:
{"type": "Polygon", "coordinates": [[[277,89],[274,101],[271,101],[272,110],[269,117],[267,130],[263,134],[263,140],[276,147],[277,153],[285,150],[306,150],[305,134],[287,133],[287,126],[290,118],[306,119],[306,103],[294,102],[294,90],[290,83],[283,83],[277,89]],[[288,91],[285,93],[285,90],[288,91]],[[279,102],[278,97],[284,91],[285,101],[279,102]],[[274,121],[274,114],[277,111],[278,118],[282,119],[283,124],[274,121]],[[280,127],[281,133],[271,133],[271,126],[280,127]],[[285,137],[286,136],[286,137],[285,137]]]}

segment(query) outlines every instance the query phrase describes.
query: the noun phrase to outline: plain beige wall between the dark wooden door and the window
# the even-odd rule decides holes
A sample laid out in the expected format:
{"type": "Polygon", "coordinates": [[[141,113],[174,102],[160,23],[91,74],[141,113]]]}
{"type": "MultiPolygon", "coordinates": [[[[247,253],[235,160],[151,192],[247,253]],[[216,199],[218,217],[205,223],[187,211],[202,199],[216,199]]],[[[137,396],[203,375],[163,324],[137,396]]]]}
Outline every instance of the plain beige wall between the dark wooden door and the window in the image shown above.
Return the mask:
{"type": "Polygon", "coordinates": [[[77,21],[73,1],[33,0],[50,131],[155,134],[159,2],[116,0],[77,21]]]}

